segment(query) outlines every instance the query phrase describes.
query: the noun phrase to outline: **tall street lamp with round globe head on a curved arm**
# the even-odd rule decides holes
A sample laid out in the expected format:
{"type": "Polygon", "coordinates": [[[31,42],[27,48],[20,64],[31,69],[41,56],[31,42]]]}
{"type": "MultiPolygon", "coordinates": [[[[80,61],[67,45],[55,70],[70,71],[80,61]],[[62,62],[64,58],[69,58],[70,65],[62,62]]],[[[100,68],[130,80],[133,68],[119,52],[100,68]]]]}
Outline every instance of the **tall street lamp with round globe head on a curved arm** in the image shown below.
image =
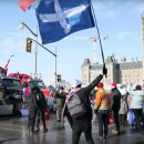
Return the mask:
{"type": "MultiPolygon", "coordinates": [[[[35,30],[35,33],[24,23],[24,22],[21,22],[20,25],[19,25],[19,29],[20,30],[23,30],[24,27],[35,37],[35,41],[38,42],[38,27],[37,27],[37,30],[35,30]]],[[[34,72],[34,79],[37,78],[37,55],[38,55],[38,43],[35,42],[35,72],[34,72]]]]}

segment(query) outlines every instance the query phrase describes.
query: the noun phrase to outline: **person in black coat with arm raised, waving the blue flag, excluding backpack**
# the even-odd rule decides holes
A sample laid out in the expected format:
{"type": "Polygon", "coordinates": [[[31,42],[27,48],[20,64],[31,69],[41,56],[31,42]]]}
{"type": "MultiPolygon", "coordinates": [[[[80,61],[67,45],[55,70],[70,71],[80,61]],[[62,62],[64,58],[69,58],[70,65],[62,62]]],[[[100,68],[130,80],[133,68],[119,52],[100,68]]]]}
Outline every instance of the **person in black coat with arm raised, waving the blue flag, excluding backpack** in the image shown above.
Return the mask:
{"type": "MultiPolygon", "coordinates": [[[[75,88],[75,93],[81,97],[83,103],[86,106],[86,113],[81,119],[71,119],[71,127],[72,127],[72,144],[78,144],[81,133],[85,134],[85,138],[88,144],[94,144],[92,138],[92,107],[90,102],[90,93],[97,85],[97,83],[102,80],[103,75],[100,74],[92,83],[90,83],[85,88],[81,88],[81,84],[78,84],[75,88]]],[[[70,116],[70,115],[69,115],[70,116]]]]}

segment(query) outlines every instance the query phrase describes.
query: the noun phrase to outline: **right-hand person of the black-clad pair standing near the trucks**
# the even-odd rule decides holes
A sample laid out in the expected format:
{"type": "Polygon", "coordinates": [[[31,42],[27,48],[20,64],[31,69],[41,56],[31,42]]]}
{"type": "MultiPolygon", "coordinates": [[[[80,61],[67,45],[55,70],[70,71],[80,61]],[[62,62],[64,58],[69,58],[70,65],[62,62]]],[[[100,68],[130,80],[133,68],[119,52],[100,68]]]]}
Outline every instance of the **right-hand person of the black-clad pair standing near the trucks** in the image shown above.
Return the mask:
{"type": "Polygon", "coordinates": [[[38,103],[38,111],[37,111],[37,131],[39,132],[40,128],[40,119],[42,120],[42,124],[43,124],[43,132],[48,132],[48,128],[45,126],[45,119],[44,119],[44,110],[48,107],[47,105],[47,101],[45,101],[45,96],[43,94],[43,92],[37,86],[37,103],[38,103]]]}

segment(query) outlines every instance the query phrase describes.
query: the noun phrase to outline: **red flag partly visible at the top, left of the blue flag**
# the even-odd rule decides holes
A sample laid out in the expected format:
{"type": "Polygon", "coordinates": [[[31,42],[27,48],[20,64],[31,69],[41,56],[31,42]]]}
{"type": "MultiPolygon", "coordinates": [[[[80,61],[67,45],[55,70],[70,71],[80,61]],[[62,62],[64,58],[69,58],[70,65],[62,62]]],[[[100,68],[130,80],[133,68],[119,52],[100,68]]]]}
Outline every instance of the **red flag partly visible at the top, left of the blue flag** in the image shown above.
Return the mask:
{"type": "Polygon", "coordinates": [[[19,0],[19,7],[25,11],[35,0],[19,0]]]}

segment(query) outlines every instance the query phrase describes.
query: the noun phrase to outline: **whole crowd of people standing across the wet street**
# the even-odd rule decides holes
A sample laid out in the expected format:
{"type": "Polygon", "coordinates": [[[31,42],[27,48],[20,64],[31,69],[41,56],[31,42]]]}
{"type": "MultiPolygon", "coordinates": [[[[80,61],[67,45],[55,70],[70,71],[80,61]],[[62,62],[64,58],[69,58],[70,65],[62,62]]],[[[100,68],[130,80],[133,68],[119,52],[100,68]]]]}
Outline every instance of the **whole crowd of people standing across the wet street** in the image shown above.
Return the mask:
{"type": "MultiPolygon", "coordinates": [[[[120,135],[121,128],[127,124],[135,128],[137,134],[144,134],[144,92],[141,85],[136,85],[133,89],[132,84],[128,84],[122,92],[117,89],[116,83],[112,83],[111,91],[107,91],[101,82],[104,74],[100,74],[92,83],[84,88],[82,88],[80,82],[70,91],[59,86],[53,95],[56,103],[56,122],[64,122],[64,117],[68,119],[72,128],[72,144],[79,144],[82,133],[84,133],[88,144],[94,144],[92,137],[93,117],[97,119],[100,140],[109,138],[107,120],[110,115],[113,116],[115,123],[115,127],[112,130],[114,135],[120,135]],[[75,93],[86,107],[86,113],[80,119],[72,117],[66,105],[71,95],[75,93]]],[[[44,120],[45,107],[48,107],[48,104],[39,88],[31,89],[29,96],[29,127],[31,132],[35,132],[35,123],[37,132],[39,132],[40,115],[43,123],[43,132],[48,131],[44,120]]]]}

